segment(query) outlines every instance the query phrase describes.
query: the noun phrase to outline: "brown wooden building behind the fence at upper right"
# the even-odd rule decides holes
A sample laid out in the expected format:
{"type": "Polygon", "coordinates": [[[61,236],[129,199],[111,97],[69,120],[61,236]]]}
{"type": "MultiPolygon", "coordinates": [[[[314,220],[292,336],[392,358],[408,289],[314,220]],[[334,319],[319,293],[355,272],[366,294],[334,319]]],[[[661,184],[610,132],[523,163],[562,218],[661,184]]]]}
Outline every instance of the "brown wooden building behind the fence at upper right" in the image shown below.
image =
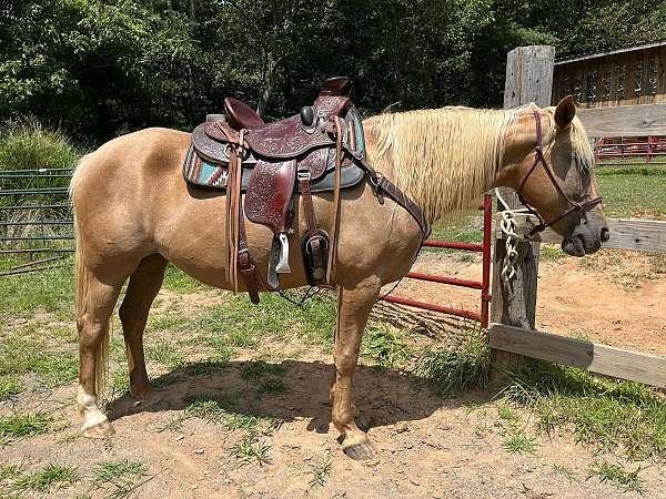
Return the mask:
{"type": "Polygon", "coordinates": [[[553,103],[581,108],[666,103],[666,41],[555,61],[553,103]]]}

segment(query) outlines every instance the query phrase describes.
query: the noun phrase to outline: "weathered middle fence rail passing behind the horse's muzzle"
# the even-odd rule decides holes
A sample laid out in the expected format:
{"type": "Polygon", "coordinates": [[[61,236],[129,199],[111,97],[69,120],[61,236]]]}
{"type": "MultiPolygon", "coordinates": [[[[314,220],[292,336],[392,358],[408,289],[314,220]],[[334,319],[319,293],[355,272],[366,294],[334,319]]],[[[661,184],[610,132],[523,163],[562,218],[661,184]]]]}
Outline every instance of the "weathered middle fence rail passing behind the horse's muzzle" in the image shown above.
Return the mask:
{"type": "MultiPolygon", "coordinates": [[[[503,238],[504,234],[500,228],[502,215],[495,215],[496,238],[503,238]]],[[[608,228],[610,230],[610,238],[603,243],[603,247],[615,249],[632,249],[636,252],[653,252],[666,253],[666,222],[656,220],[625,220],[625,218],[608,218],[608,228]]],[[[537,220],[534,215],[517,214],[516,215],[516,233],[527,234],[537,220]]],[[[562,236],[549,228],[546,228],[541,234],[536,234],[529,241],[538,241],[541,243],[562,242],[562,236]]]]}

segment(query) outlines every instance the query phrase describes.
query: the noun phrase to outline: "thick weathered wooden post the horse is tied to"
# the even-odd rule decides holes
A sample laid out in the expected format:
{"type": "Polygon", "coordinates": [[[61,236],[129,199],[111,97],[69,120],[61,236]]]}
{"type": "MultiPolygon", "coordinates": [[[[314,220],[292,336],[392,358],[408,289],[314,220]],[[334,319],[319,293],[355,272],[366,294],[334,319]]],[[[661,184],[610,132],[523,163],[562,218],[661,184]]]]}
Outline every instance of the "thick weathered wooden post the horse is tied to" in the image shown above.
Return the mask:
{"type": "MultiPolygon", "coordinates": [[[[554,62],[555,48],[549,45],[518,47],[508,52],[504,109],[531,102],[542,108],[551,105],[554,62]]],[[[501,194],[509,207],[522,206],[514,191],[501,189],[501,194]]],[[[498,210],[503,206],[498,205],[498,210]]],[[[491,317],[494,323],[535,329],[539,244],[519,243],[516,251],[519,257],[512,282],[513,293],[509,293],[500,277],[506,254],[504,241],[495,240],[491,317]]],[[[497,367],[515,366],[518,359],[514,354],[493,350],[493,363],[497,367]]]]}

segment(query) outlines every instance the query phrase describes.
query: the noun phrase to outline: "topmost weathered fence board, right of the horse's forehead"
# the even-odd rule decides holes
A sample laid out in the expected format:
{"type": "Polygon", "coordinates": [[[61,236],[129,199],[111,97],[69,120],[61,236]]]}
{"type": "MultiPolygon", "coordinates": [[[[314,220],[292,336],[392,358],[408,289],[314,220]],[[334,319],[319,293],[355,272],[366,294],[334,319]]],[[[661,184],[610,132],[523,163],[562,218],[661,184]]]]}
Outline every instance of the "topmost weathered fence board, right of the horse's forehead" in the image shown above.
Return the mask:
{"type": "Polygon", "coordinates": [[[666,104],[578,109],[591,138],[666,135],[666,104]]]}

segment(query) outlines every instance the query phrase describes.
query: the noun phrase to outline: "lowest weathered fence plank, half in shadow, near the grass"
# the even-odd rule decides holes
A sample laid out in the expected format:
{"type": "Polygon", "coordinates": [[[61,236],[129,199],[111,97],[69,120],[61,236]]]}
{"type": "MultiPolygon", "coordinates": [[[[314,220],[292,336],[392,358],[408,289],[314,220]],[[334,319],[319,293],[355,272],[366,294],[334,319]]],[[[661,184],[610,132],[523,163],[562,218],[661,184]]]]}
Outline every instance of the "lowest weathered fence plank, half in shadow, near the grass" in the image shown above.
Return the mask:
{"type": "Polygon", "coordinates": [[[666,388],[663,357],[504,324],[491,324],[488,337],[491,348],[666,388]]]}

